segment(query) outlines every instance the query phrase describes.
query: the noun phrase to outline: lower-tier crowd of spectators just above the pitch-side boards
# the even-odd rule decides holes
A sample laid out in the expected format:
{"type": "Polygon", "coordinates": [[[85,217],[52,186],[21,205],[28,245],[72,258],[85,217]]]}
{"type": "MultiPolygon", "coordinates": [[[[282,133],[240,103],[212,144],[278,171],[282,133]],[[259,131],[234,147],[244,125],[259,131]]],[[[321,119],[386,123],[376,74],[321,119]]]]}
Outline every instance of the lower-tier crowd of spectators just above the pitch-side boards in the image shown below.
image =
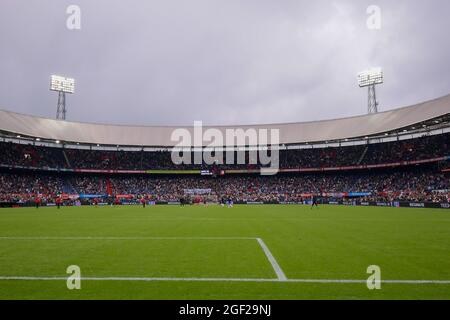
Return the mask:
{"type": "MultiPolygon", "coordinates": [[[[155,201],[178,201],[188,190],[203,190],[209,199],[233,201],[302,201],[309,194],[339,197],[341,193],[371,193],[366,200],[389,199],[448,202],[449,174],[430,170],[308,174],[277,176],[49,176],[0,174],[0,201],[8,197],[55,196],[68,187],[78,194],[146,195],[155,201]],[[205,192],[206,190],[206,192],[205,192]],[[331,195],[330,195],[331,194],[331,195]],[[334,194],[334,195],[333,195],[334,194]]],[[[194,192],[195,194],[195,192],[194,192]]]]}

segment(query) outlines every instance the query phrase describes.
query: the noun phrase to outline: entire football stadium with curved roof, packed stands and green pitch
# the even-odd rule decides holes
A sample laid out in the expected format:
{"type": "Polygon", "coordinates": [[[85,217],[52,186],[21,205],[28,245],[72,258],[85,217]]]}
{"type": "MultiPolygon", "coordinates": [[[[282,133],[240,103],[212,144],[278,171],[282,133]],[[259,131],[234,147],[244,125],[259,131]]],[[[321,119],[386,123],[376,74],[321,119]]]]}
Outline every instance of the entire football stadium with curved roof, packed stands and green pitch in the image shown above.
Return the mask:
{"type": "Polygon", "coordinates": [[[259,161],[176,165],[171,127],[0,119],[2,298],[450,294],[450,96],[272,125],[276,175],[259,161]],[[72,265],[82,290],[67,290],[72,265]]]}

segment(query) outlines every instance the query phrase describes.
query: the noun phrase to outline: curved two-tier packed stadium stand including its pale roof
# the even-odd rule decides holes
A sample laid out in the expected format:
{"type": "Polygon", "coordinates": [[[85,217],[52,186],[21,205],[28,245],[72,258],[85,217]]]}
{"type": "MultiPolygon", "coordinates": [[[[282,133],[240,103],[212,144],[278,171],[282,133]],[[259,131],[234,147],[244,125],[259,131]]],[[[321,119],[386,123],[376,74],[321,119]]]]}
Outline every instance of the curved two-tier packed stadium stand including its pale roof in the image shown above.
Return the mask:
{"type": "Polygon", "coordinates": [[[0,111],[0,205],[28,205],[36,198],[51,204],[58,197],[66,204],[142,197],[153,203],[302,203],[318,195],[328,203],[448,208],[449,114],[446,96],[375,115],[266,126],[279,129],[281,141],[279,173],[264,176],[259,161],[174,164],[171,127],[83,124],[0,111]]]}

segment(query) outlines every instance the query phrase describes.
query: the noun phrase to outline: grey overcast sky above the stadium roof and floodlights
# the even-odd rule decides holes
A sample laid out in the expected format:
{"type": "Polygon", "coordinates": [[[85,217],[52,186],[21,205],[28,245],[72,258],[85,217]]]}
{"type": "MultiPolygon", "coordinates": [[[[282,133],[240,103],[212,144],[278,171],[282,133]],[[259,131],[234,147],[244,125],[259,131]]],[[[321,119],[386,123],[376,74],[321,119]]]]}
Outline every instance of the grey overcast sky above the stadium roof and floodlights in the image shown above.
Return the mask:
{"type": "Polygon", "coordinates": [[[54,118],[56,73],[76,78],[72,121],[340,118],[366,112],[356,75],[382,66],[384,111],[450,93],[449,14],[448,0],[1,0],[0,108],[54,118]]]}

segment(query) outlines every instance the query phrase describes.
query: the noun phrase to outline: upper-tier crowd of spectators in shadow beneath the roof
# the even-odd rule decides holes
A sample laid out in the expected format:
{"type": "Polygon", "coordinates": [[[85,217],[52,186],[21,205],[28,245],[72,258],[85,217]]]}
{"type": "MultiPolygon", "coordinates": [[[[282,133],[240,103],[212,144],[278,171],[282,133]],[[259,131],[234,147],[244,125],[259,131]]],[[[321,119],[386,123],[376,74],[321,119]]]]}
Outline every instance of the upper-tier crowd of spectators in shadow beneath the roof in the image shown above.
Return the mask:
{"type": "MultiPolygon", "coordinates": [[[[388,143],[284,150],[280,151],[279,160],[281,168],[340,167],[426,160],[450,155],[449,141],[450,134],[447,133],[388,143]]],[[[191,159],[194,158],[191,154],[191,159]]],[[[218,168],[254,169],[261,166],[258,163],[250,164],[249,154],[246,153],[245,164],[219,164],[218,168]]],[[[5,142],[0,143],[0,165],[98,170],[211,169],[205,163],[174,164],[170,151],[102,151],[5,142]]]]}

